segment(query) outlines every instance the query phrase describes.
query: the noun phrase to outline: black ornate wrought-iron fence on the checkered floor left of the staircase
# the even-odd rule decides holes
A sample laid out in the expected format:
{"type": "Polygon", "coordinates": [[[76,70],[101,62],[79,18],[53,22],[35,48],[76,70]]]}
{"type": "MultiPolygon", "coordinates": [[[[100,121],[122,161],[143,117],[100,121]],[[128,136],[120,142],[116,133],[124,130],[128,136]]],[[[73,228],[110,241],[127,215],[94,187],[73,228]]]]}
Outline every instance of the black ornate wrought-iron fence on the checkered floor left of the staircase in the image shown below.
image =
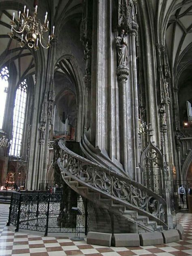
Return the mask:
{"type": "Polygon", "coordinates": [[[62,192],[13,192],[7,226],[47,233],[75,233],[77,215],[71,206],[81,209],[82,233],[87,233],[87,201],[81,196],[69,202],[71,197],[63,198],[62,192]],[[70,207],[70,208],[69,208],[70,207]]]}

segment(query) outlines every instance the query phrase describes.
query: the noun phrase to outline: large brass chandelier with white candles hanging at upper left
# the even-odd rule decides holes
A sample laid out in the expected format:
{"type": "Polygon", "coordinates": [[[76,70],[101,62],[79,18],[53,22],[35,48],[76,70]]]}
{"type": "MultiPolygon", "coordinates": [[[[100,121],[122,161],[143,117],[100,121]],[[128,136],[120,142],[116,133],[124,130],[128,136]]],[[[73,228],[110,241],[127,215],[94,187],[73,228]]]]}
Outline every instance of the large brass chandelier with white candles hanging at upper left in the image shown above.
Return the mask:
{"type": "Polygon", "coordinates": [[[18,17],[15,22],[15,13],[13,13],[13,20],[10,21],[11,24],[11,32],[9,32],[9,36],[14,39],[15,32],[17,34],[21,34],[19,45],[23,47],[25,45],[25,41],[28,44],[28,47],[33,48],[36,50],[39,49],[38,45],[41,45],[43,48],[48,49],[51,44],[50,42],[55,37],[54,30],[55,26],[53,26],[52,33],[48,36],[48,43],[43,45],[44,40],[44,33],[49,32],[49,20],[47,19],[47,12],[45,14],[44,23],[38,19],[37,15],[37,5],[34,8],[34,12],[29,15],[29,9],[26,10],[26,5],[24,6],[24,10],[21,13],[19,11],[18,17]],[[24,38],[25,41],[24,41],[24,38]]]}

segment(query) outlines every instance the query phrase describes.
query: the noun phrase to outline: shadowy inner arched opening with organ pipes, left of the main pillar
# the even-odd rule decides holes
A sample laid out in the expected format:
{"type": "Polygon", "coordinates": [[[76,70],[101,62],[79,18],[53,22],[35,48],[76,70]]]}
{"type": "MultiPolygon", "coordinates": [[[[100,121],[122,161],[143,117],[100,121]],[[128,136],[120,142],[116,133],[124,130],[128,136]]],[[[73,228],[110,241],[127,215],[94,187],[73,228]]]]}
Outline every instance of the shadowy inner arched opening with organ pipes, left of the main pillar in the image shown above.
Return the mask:
{"type": "Polygon", "coordinates": [[[65,137],[68,140],[75,140],[77,125],[77,101],[75,93],[64,90],[61,96],[55,99],[53,137],[65,137]]]}

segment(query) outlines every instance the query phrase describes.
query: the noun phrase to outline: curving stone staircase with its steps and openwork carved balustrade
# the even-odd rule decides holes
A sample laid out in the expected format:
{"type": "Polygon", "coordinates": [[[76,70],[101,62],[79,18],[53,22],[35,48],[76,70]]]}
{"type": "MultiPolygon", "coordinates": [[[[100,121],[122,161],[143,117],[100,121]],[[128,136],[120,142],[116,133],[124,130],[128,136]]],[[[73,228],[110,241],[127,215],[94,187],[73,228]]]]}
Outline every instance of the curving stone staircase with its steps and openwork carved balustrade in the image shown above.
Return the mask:
{"type": "Polygon", "coordinates": [[[94,205],[132,223],[133,228],[128,233],[168,228],[166,201],[161,196],[128,177],[75,154],[62,139],[58,145],[58,166],[64,181],[94,205]]]}

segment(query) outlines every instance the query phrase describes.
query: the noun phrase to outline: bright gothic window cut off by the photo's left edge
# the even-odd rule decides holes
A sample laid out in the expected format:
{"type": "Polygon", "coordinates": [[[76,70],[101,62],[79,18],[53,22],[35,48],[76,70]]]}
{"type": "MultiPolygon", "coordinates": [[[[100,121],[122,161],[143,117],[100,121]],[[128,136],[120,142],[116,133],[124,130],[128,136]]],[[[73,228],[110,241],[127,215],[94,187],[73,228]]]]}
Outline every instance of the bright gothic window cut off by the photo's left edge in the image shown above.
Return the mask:
{"type": "Polygon", "coordinates": [[[8,78],[9,78],[9,70],[7,67],[2,68],[0,70],[0,129],[2,129],[3,125],[3,117],[4,117],[4,109],[6,102],[6,94],[8,87],[8,78]]]}

